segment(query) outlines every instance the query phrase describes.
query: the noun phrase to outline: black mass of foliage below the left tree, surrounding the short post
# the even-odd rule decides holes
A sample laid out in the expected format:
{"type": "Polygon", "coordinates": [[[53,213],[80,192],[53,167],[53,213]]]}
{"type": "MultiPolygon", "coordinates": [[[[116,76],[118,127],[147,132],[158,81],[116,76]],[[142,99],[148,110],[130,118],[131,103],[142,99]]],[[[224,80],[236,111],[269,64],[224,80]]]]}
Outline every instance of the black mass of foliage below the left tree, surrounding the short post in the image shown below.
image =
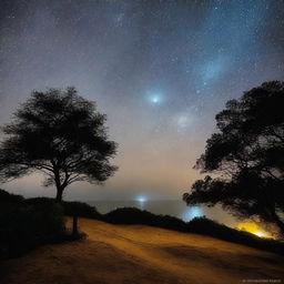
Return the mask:
{"type": "Polygon", "coordinates": [[[101,219],[95,207],[82,202],[49,197],[24,199],[0,190],[0,260],[19,256],[42,244],[85,239],[65,227],[65,215],[101,219]]]}

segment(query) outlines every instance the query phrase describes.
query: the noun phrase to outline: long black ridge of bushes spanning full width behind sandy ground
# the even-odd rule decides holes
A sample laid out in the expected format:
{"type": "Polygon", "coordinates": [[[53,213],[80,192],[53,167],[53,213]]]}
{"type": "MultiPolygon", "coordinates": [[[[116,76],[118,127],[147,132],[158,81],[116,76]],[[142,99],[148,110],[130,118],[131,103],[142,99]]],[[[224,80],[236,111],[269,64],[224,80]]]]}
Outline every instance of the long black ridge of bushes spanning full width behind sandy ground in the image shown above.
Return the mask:
{"type": "Polygon", "coordinates": [[[24,240],[30,237],[28,244],[33,244],[33,242],[39,244],[57,242],[57,240],[62,240],[62,234],[65,230],[64,215],[94,219],[111,224],[142,224],[183,233],[202,234],[284,255],[283,242],[272,239],[261,239],[248,232],[220,224],[205,216],[184,222],[174,216],[156,215],[136,207],[120,207],[106,214],[100,214],[94,206],[83,202],[64,201],[59,204],[53,199],[48,197],[24,200],[20,195],[8,194],[0,190],[0,257],[2,244],[7,242],[7,239],[3,240],[3,234],[1,234],[3,233],[1,232],[3,227],[4,230],[9,229],[4,232],[8,240],[13,240],[12,234],[18,236],[18,239],[19,234],[22,234],[24,240]],[[6,215],[4,217],[3,213],[6,215]],[[28,229],[28,233],[23,232],[24,229],[28,229]]]}

